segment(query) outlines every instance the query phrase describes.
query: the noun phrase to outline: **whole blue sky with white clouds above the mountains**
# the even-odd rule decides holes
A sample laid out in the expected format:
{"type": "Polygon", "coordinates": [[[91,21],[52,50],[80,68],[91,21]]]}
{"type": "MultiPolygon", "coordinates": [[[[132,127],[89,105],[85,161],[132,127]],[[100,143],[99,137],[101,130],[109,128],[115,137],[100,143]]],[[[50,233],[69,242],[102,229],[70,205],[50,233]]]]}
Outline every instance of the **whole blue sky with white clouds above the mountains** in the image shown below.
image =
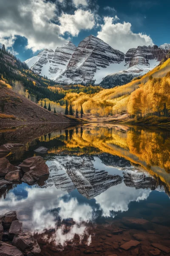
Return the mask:
{"type": "Polygon", "coordinates": [[[125,52],[170,43],[167,0],[1,0],[0,44],[22,61],[95,35],[125,52]]]}

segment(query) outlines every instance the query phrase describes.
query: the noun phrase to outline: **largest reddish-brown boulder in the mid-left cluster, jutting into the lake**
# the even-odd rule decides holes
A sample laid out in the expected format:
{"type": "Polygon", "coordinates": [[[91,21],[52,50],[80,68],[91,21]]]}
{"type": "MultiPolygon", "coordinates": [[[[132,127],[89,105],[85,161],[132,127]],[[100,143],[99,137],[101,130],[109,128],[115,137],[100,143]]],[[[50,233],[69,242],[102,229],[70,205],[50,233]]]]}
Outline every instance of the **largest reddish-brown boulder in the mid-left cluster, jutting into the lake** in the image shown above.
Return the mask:
{"type": "Polygon", "coordinates": [[[19,166],[25,172],[22,181],[29,185],[33,185],[40,180],[41,177],[49,175],[48,166],[40,156],[28,158],[19,166]]]}

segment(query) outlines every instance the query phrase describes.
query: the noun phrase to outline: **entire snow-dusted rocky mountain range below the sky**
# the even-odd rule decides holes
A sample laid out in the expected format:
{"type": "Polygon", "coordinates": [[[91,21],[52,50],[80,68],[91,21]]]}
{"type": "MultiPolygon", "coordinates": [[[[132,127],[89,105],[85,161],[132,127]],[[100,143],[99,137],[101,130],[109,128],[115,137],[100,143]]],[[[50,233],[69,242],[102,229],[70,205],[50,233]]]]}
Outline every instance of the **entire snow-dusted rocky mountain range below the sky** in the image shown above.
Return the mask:
{"type": "Polygon", "coordinates": [[[139,46],[124,54],[90,35],[78,47],[68,42],[55,52],[45,49],[25,62],[31,70],[57,84],[92,83],[111,88],[152,70],[169,49],[170,44],[139,46]]]}

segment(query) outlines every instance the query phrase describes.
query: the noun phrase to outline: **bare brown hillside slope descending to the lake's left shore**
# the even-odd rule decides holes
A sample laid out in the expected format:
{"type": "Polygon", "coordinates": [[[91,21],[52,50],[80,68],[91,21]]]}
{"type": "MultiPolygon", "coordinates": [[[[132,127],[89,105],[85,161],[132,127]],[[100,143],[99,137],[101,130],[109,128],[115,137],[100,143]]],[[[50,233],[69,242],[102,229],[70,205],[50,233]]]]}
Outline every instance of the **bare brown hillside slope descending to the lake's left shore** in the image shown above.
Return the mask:
{"type": "Polygon", "coordinates": [[[0,128],[37,123],[56,123],[61,127],[61,123],[68,125],[69,120],[41,108],[0,81],[0,128]]]}

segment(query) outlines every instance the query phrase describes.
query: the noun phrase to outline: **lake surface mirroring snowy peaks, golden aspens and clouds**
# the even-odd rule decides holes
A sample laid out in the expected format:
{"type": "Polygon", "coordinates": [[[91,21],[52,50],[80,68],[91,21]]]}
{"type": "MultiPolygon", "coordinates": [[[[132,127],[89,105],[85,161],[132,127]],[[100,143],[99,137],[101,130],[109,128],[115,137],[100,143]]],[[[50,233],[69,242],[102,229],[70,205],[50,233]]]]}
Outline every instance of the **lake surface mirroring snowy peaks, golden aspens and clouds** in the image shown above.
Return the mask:
{"type": "MultiPolygon", "coordinates": [[[[55,131],[54,127],[34,127],[28,138],[21,135],[26,133],[24,129],[27,128],[0,132],[0,144],[25,145],[8,154],[8,160],[18,165],[34,156],[34,149],[45,146],[49,150],[43,158],[50,175],[48,180],[34,186],[13,185],[1,194],[0,212],[17,210],[23,227],[40,243],[40,255],[64,255],[73,251],[71,255],[83,255],[87,248],[93,253],[96,247],[102,247],[101,255],[105,251],[113,254],[116,249],[112,251],[107,243],[101,246],[98,240],[114,228],[129,232],[122,224],[122,218],[127,216],[151,221],[157,225],[153,241],[167,241],[170,231],[168,129],[111,124],[61,131],[55,131]]],[[[145,233],[148,240],[149,235],[145,233]]],[[[126,237],[134,239],[130,234],[126,237]]]]}

